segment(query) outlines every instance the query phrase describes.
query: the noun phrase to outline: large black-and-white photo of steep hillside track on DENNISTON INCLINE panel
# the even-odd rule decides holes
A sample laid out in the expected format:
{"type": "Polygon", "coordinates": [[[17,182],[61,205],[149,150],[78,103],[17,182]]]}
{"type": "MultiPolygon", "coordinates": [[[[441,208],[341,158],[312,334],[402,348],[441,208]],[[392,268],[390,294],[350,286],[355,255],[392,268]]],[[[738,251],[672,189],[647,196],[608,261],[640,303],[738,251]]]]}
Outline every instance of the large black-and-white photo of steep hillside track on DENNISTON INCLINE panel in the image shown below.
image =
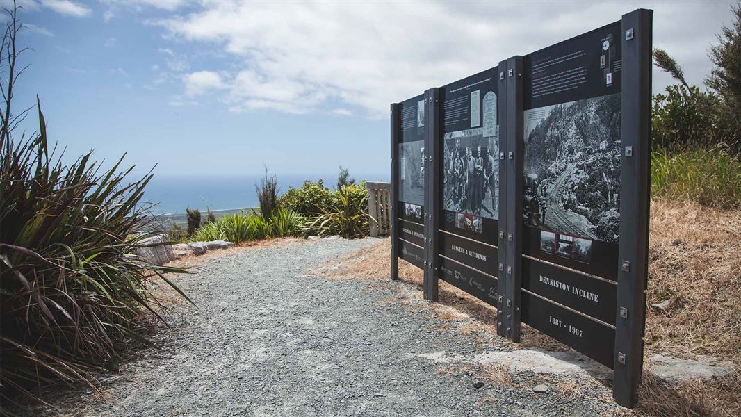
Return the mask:
{"type": "Polygon", "coordinates": [[[525,110],[528,225],[617,241],[620,105],[612,94],[525,110]]]}

